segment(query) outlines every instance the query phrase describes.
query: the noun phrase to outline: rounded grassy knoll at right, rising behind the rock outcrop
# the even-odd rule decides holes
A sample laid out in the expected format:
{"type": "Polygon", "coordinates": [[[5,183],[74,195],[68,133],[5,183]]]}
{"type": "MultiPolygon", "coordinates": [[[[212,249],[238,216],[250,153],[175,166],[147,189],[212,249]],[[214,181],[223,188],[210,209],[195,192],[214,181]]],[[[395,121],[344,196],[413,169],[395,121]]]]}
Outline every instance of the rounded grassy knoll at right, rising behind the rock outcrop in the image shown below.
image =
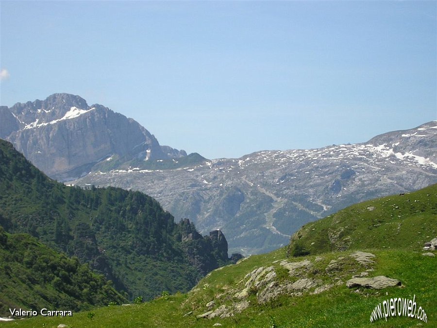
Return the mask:
{"type": "Polygon", "coordinates": [[[437,236],[437,185],[359,203],[305,224],[290,254],[359,248],[417,249],[437,236]]]}

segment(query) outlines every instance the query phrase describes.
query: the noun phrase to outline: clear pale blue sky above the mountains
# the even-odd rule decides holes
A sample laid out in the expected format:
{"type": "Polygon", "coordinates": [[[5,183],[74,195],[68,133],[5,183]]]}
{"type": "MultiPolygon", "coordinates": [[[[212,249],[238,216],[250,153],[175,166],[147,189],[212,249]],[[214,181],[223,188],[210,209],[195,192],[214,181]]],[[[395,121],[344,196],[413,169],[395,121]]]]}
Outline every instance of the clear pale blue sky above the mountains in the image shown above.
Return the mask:
{"type": "Polygon", "coordinates": [[[208,158],[437,120],[436,1],[0,0],[0,103],[67,92],[208,158]]]}

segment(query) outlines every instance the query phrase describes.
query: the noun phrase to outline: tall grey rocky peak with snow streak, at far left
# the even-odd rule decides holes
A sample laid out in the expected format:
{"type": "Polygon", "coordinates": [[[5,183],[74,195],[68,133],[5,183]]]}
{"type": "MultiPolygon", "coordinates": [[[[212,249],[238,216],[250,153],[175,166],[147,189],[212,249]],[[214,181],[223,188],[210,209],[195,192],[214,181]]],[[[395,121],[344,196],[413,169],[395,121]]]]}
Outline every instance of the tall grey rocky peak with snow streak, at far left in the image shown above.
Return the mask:
{"type": "Polygon", "coordinates": [[[11,108],[2,106],[0,138],[11,141],[36,167],[61,181],[83,176],[109,158],[117,158],[122,166],[132,160],[186,156],[183,150],[160,146],[133,119],[100,104],[88,106],[81,97],[66,93],[11,108]]]}

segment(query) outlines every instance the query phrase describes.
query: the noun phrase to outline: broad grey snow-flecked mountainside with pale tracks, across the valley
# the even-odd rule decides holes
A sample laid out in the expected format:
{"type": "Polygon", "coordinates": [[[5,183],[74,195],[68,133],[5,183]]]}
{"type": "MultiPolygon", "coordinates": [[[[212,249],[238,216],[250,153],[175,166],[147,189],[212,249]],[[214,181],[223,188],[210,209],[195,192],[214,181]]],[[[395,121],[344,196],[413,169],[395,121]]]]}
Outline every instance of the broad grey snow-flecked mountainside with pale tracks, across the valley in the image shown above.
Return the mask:
{"type": "Polygon", "coordinates": [[[145,191],[201,231],[220,228],[232,252],[262,253],[341,208],[437,183],[437,121],[359,144],[261,151],[164,172],[102,169],[74,183],[145,191]]]}

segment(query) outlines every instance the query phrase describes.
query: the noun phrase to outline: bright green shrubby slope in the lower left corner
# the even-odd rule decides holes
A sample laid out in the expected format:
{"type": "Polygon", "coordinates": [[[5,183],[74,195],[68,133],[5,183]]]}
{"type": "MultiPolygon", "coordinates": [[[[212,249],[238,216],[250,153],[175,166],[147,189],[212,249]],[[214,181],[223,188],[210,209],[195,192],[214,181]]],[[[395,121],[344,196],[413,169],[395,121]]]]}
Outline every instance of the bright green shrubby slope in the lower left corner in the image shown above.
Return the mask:
{"type": "Polygon", "coordinates": [[[83,311],[127,300],[102,275],[27,234],[0,226],[0,315],[9,309],[83,311]]]}

